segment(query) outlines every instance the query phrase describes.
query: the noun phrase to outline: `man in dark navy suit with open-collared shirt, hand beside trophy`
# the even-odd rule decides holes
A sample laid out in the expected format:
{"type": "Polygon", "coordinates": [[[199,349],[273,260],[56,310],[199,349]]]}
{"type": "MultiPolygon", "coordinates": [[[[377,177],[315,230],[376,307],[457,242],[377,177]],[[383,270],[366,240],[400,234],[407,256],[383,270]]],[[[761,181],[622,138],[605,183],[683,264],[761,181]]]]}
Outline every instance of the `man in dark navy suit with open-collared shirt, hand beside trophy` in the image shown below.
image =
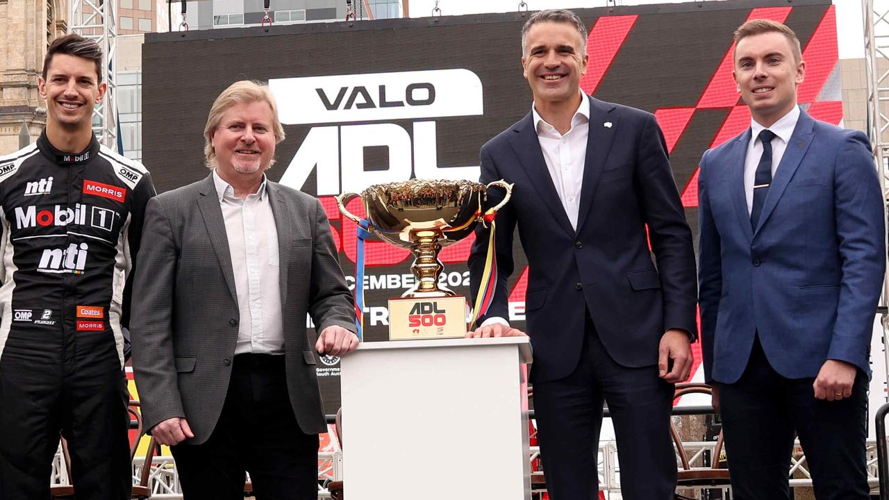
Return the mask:
{"type": "MultiPolygon", "coordinates": [[[[481,181],[515,187],[497,216],[494,301],[469,336],[521,334],[506,320],[518,225],[530,267],[531,381],[550,495],[597,496],[606,401],[623,497],[668,500],[677,478],[673,383],[689,373],[695,332],[692,235],[653,115],[581,92],[586,37],[569,11],[538,12],[522,30],[534,102],[481,149],[481,181]]],[[[488,241],[485,229],[477,236],[473,294],[488,241]]]]}

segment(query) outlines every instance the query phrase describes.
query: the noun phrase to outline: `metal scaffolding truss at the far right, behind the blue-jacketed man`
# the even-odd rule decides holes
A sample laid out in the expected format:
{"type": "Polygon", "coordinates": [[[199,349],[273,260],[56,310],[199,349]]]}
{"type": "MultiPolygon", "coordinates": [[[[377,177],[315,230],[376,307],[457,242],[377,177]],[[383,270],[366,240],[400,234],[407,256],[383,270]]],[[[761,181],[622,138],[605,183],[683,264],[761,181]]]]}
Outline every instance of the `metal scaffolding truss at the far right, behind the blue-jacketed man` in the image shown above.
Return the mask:
{"type": "MultiPolygon", "coordinates": [[[[864,63],[868,83],[868,136],[877,162],[883,198],[889,199],[889,0],[861,0],[864,20],[864,63]]],[[[889,305],[889,280],[882,304],[889,305]]],[[[889,366],[889,315],[883,314],[883,343],[889,366]]]]}

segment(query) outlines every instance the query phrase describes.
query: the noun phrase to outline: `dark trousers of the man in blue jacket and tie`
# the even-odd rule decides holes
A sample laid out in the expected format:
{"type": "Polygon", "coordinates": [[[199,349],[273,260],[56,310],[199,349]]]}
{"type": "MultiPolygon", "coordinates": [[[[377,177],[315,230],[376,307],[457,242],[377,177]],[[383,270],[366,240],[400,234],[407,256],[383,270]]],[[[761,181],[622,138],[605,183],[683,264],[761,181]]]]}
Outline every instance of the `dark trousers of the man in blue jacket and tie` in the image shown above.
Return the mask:
{"type": "Polygon", "coordinates": [[[818,500],[867,500],[865,457],[868,376],[858,371],[852,397],[815,399],[813,378],[775,372],[757,337],[736,383],[720,383],[725,454],[735,500],[789,500],[795,434],[818,500]]]}

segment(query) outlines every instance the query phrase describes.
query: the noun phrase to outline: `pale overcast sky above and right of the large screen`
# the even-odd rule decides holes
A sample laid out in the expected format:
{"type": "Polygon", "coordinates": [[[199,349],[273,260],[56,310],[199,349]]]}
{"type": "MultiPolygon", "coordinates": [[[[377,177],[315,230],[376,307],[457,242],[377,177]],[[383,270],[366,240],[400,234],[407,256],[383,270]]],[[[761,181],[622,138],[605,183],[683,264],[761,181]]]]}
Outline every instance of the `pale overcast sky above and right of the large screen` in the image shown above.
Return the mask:
{"type": "MultiPolygon", "coordinates": [[[[694,0],[618,0],[617,3],[627,5],[642,4],[682,4],[694,0]]],[[[717,0],[709,0],[713,2],[717,0]]],[[[541,9],[567,8],[579,9],[605,6],[606,0],[525,0],[528,8],[534,11],[541,9]]],[[[840,59],[859,59],[864,57],[864,28],[861,21],[861,0],[833,0],[837,5],[837,44],[840,59]]],[[[879,2],[878,2],[879,3],[879,2]]],[[[411,0],[411,17],[431,15],[436,0],[411,0]]],[[[442,15],[474,14],[480,12],[509,12],[518,9],[519,0],[438,0],[438,8],[442,15]]],[[[610,3],[609,3],[610,4],[610,3]]],[[[729,36],[730,34],[726,34],[729,36]]]]}

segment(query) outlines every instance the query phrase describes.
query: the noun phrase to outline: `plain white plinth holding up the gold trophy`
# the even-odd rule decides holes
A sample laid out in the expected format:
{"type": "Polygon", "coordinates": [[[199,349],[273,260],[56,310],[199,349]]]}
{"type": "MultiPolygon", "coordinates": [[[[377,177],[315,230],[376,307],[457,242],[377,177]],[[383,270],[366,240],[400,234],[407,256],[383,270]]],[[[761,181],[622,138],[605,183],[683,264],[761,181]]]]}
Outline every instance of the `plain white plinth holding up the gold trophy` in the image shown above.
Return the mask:
{"type": "Polygon", "coordinates": [[[529,500],[527,337],[362,343],[341,360],[354,500],[529,500]]]}

